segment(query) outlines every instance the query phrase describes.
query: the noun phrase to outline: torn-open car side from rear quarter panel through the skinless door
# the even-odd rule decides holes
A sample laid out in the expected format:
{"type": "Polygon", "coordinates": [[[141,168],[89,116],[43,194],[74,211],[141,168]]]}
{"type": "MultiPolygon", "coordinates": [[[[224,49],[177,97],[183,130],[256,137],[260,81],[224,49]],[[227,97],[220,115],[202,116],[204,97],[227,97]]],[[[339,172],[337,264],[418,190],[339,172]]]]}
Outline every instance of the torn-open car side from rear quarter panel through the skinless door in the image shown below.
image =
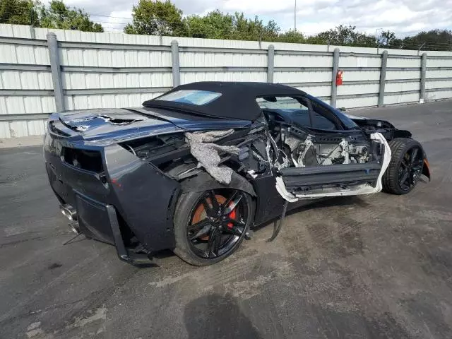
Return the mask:
{"type": "Polygon", "coordinates": [[[121,146],[178,182],[201,173],[221,186],[232,177],[249,182],[271,176],[280,196],[290,202],[381,191],[391,160],[381,133],[309,133],[266,122],[256,121],[251,129],[171,133],[121,146]]]}

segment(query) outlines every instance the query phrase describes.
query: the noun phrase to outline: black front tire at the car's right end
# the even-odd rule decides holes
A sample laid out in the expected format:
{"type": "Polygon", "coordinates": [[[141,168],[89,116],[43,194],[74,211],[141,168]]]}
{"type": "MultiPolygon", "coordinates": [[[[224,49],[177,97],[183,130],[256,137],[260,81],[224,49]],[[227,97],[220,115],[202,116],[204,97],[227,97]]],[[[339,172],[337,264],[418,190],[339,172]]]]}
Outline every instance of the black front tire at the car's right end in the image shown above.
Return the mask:
{"type": "MultiPolygon", "coordinates": [[[[415,188],[420,175],[422,174],[422,167],[424,165],[424,150],[422,145],[417,141],[409,138],[395,138],[389,141],[389,147],[391,148],[391,162],[383,174],[382,184],[383,191],[390,194],[408,194],[415,188]],[[410,157],[414,150],[417,149],[417,153],[414,157],[410,157]],[[414,158],[413,164],[410,165],[411,160],[414,158]],[[408,168],[407,168],[408,164],[408,168]],[[408,174],[405,173],[405,168],[408,174]],[[414,173],[414,174],[413,174],[414,173]],[[405,175],[409,177],[408,184],[401,184],[405,175]]],[[[407,183],[407,181],[403,181],[407,183]]]]}

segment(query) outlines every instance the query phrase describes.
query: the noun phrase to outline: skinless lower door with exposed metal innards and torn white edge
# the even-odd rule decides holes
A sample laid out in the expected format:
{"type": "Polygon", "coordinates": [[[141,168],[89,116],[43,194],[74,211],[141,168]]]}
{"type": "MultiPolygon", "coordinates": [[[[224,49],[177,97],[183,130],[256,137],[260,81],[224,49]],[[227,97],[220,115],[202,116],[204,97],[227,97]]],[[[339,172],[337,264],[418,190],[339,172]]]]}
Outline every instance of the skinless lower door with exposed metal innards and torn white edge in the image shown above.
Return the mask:
{"type": "Polygon", "coordinates": [[[381,191],[381,177],[391,159],[381,133],[364,134],[359,129],[310,133],[278,119],[270,120],[268,126],[267,157],[258,153],[256,141],[250,148],[261,161],[260,168],[264,167],[262,160],[268,160],[270,171],[276,174],[276,189],[287,201],[381,191]]]}

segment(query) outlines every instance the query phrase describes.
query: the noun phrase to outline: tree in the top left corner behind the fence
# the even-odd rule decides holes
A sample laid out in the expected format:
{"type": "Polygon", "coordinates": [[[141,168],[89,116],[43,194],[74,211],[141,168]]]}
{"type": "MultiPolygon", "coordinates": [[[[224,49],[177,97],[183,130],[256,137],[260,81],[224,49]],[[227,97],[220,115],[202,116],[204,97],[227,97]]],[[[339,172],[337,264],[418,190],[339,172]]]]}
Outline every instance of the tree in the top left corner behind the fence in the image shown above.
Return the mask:
{"type": "Polygon", "coordinates": [[[32,0],[1,0],[0,23],[39,26],[39,6],[39,2],[32,0]]]}

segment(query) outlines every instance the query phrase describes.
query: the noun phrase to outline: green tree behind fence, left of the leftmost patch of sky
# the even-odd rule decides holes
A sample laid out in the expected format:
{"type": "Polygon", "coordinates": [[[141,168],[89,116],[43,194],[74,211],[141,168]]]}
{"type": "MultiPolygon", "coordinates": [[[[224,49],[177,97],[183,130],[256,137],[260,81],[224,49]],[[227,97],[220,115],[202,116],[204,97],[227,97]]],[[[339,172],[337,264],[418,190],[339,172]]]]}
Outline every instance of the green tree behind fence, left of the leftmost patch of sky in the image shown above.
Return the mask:
{"type": "Polygon", "coordinates": [[[80,8],[69,8],[63,1],[53,0],[49,8],[40,11],[40,27],[62,30],[82,30],[83,32],[103,32],[100,23],[90,20],[88,13],[80,8]]]}

